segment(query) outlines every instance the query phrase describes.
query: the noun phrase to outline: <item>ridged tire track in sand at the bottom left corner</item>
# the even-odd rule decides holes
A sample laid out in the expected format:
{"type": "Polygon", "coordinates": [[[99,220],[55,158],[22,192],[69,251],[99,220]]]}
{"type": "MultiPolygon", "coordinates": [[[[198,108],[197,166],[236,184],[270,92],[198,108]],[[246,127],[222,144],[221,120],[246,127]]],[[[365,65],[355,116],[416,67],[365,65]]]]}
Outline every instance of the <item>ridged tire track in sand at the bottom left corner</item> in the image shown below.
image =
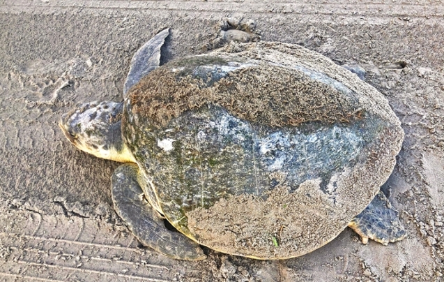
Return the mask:
{"type": "Polygon", "coordinates": [[[153,281],[174,279],[157,254],[91,218],[8,210],[0,216],[0,277],[11,281],[153,281]]]}

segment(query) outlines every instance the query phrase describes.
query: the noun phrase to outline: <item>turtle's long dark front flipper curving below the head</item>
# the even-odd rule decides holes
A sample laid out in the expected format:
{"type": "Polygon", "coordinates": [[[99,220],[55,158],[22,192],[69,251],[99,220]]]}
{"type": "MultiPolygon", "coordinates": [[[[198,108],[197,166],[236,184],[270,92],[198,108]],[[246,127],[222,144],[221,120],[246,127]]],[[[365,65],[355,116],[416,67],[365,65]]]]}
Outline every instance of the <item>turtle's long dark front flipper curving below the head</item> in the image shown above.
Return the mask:
{"type": "Polygon", "coordinates": [[[203,260],[199,244],[179,232],[168,230],[162,217],[144,198],[137,181],[139,168],[133,163],[119,166],[112,175],[112,199],[117,214],[128,223],[141,244],[170,258],[203,260]]]}

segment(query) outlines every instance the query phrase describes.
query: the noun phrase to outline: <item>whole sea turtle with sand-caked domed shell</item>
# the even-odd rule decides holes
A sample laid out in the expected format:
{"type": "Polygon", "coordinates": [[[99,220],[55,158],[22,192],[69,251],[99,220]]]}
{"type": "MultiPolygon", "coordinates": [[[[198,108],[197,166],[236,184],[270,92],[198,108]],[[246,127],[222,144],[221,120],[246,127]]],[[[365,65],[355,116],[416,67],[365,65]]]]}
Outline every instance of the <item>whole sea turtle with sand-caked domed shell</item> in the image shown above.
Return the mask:
{"type": "Polygon", "coordinates": [[[277,42],[160,66],[168,35],[137,51],[123,102],[85,103],[60,121],[78,149],[125,163],[112,199],[141,244],[185,260],[206,257],[199,244],[284,259],[347,225],[362,242],[404,238],[380,192],[404,132],[381,93],[321,54],[277,42]]]}

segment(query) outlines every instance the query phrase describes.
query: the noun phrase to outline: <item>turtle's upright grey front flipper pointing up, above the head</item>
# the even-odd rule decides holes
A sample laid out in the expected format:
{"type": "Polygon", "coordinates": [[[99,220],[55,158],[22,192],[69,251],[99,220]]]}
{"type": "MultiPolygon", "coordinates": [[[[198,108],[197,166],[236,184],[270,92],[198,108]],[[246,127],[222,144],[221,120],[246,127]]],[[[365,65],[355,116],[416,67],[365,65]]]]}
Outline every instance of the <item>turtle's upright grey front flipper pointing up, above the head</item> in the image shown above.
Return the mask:
{"type": "Polygon", "coordinates": [[[160,31],[134,54],[131,59],[130,71],[123,85],[123,98],[126,98],[128,90],[134,84],[137,84],[142,77],[160,65],[160,48],[168,36],[169,29],[160,31]]]}

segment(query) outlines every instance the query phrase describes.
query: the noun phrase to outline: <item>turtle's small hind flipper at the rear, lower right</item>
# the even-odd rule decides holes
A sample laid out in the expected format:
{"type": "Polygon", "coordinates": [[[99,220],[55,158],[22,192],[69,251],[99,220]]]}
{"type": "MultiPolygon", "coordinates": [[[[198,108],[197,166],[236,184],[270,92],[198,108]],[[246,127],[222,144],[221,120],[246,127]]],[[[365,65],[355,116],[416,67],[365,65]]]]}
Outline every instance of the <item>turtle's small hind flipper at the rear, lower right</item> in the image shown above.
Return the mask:
{"type": "Polygon", "coordinates": [[[349,223],[349,228],[360,235],[362,243],[369,239],[387,245],[389,242],[401,241],[406,231],[399,221],[399,213],[392,208],[382,191],[370,204],[349,223]]]}

